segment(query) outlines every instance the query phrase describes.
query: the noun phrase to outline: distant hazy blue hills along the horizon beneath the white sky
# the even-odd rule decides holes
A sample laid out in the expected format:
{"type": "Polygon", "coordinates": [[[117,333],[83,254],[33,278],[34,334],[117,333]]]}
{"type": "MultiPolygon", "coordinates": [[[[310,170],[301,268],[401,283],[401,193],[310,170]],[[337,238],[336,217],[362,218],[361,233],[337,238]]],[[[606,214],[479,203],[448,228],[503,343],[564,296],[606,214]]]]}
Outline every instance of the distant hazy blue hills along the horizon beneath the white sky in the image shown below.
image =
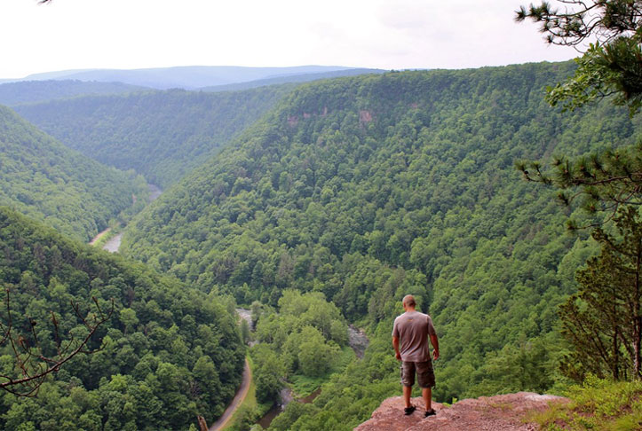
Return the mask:
{"type": "Polygon", "coordinates": [[[15,81],[79,80],[98,82],[123,82],[151,87],[158,90],[180,88],[194,90],[202,87],[225,85],[276,78],[294,74],[320,74],[347,70],[353,67],[297,66],[297,67],[236,67],[236,66],[186,66],[147,69],[92,69],[31,74],[15,81]]]}

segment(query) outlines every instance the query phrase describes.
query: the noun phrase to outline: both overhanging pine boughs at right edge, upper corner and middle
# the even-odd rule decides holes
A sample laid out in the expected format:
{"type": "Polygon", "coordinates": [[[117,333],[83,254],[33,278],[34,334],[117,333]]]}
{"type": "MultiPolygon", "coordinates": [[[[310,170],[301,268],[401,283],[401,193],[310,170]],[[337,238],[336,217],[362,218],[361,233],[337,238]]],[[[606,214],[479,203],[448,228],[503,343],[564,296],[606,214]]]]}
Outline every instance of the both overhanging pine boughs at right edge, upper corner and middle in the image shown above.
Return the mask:
{"type": "MultiPolygon", "coordinates": [[[[561,103],[575,109],[598,98],[613,97],[615,105],[628,106],[630,115],[642,107],[642,2],[632,0],[559,0],[560,9],[549,2],[522,6],[517,21],[534,20],[541,25],[548,43],[581,46],[590,37],[583,56],[575,59],[575,74],[548,89],[552,106],[561,103]]],[[[554,174],[544,173],[538,162],[519,162],[527,180],[553,184],[559,199],[569,203],[581,196],[590,213],[610,211],[612,218],[626,203],[639,204],[642,187],[640,145],[623,151],[606,149],[588,158],[553,162],[554,174]]],[[[569,227],[576,228],[571,221],[569,227]]]]}

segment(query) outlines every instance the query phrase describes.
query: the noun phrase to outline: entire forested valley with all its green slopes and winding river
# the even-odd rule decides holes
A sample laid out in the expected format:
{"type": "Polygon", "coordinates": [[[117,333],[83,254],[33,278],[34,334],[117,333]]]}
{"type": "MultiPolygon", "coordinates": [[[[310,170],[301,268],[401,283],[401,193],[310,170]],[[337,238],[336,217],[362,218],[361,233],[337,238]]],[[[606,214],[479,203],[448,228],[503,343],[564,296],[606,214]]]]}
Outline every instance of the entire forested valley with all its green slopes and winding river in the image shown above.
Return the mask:
{"type": "MultiPolygon", "coordinates": [[[[70,301],[115,301],[97,352],[44,380],[45,396],[0,393],[0,425],[353,429],[400,395],[390,333],[405,294],[440,335],[436,402],[567,388],[559,305],[599,246],[565,223],[607,219],[515,166],[642,137],[609,100],[545,102],[575,67],[212,93],[48,83],[0,108],[0,274],[13,312],[39,322],[29,348],[55,353],[52,313],[66,342],[86,333],[70,301]],[[254,398],[226,423],[243,385],[254,398]]],[[[11,375],[14,357],[2,346],[11,375]]]]}

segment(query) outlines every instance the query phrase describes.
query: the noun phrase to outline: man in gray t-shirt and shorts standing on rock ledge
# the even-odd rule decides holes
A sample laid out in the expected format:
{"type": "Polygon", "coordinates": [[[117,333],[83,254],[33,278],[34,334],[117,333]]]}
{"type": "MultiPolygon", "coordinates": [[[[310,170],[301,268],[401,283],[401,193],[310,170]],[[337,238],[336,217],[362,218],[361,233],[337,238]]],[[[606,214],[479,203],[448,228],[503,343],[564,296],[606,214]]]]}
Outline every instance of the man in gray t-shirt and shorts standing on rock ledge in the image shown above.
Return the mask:
{"type": "Polygon", "coordinates": [[[401,361],[401,384],[403,385],[403,401],[406,404],[405,414],[412,414],[416,407],[410,404],[412,385],[417,383],[422,388],[424,397],[424,417],[436,414],[432,409],[432,388],[435,386],[435,374],[432,371],[432,361],[428,337],[432,343],[432,357],[440,357],[440,343],[432,325],[432,318],[415,310],[415,297],[411,294],[403,298],[403,310],[406,312],[394,319],[392,326],[392,347],[395,357],[401,361]]]}

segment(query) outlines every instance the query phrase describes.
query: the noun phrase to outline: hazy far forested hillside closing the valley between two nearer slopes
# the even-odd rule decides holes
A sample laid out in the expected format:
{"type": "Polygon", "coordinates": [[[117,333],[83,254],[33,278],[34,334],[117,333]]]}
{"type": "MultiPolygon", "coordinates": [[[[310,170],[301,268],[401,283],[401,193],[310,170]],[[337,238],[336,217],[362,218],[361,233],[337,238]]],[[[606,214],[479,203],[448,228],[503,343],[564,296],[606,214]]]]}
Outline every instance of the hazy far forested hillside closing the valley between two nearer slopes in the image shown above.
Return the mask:
{"type": "Polygon", "coordinates": [[[101,163],[133,168],[164,189],[257,121],[292,88],[216,94],[149,91],[55,100],[16,110],[65,145],[101,163]]]}

